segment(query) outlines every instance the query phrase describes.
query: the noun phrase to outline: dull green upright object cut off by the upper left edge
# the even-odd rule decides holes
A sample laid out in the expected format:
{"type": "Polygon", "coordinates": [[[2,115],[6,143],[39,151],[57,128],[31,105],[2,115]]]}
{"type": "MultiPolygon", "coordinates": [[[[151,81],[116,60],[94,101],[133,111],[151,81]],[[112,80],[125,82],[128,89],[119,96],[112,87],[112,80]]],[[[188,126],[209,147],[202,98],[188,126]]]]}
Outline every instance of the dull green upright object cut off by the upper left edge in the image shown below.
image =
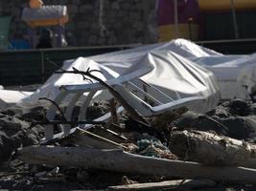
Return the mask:
{"type": "Polygon", "coordinates": [[[5,50],[9,46],[11,19],[11,16],[0,17],[0,50],[5,50]]]}

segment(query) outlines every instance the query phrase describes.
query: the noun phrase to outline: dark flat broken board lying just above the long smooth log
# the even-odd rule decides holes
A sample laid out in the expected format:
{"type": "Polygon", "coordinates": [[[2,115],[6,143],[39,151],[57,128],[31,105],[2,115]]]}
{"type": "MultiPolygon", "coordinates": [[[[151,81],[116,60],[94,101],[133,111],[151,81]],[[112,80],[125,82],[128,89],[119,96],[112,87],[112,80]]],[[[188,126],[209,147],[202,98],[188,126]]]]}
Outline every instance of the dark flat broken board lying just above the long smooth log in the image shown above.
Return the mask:
{"type": "Polygon", "coordinates": [[[128,149],[126,146],[123,146],[107,138],[100,137],[81,128],[77,128],[73,134],[66,138],[62,138],[60,142],[66,142],[68,144],[76,144],[79,146],[95,149],[128,149]]]}

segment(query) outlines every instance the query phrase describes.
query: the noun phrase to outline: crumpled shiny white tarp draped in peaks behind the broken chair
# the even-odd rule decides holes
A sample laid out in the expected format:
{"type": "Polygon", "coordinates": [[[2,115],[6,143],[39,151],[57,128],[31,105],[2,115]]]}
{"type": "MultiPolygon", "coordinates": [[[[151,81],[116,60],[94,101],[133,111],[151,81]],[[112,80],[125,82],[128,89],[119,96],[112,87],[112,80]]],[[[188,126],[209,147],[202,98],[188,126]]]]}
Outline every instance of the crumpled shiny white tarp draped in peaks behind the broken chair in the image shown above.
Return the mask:
{"type": "MultiPolygon", "coordinates": [[[[181,98],[203,97],[200,104],[197,103],[197,106],[194,105],[190,109],[199,108],[200,111],[205,112],[217,105],[220,98],[219,87],[214,74],[186,57],[211,55],[221,55],[221,53],[198,47],[189,41],[180,39],[116,53],[80,57],[76,60],[65,61],[62,68],[70,71],[72,67],[75,67],[78,70],[86,71],[90,67],[100,70],[102,74],[96,74],[104,80],[109,80],[148,67],[149,72],[141,77],[143,80],[170,95],[176,92],[181,98]]],[[[81,75],[53,74],[33,96],[25,100],[36,100],[39,97],[54,99],[58,95],[61,85],[86,83],[89,82],[84,81],[81,75]]]]}

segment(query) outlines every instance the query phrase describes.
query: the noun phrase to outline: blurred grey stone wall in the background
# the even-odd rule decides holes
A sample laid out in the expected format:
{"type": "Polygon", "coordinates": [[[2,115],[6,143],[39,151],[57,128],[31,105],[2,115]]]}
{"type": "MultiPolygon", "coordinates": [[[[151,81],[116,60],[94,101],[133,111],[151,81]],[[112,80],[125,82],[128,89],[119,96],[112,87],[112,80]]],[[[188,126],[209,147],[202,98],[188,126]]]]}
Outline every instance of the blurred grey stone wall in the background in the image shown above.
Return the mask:
{"type": "MultiPolygon", "coordinates": [[[[67,5],[69,22],[65,26],[65,32],[73,32],[72,37],[67,38],[69,45],[86,46],[88,41],[93,45],[129,44],[137,42],[138,38],[151,43],[157,40],[152,39],[149,32],[145,32],[147,29],[144,26],[144,23],[148,23],[149,15],[154,9],[155,0],[104,0],[101,19],[100,0],[44,0],[44,3],[45,5],[67,5]],[[115,35],[115,38],[106,39],[108,32],[105,32],[105,35],[100,36],[99,39],[97,37],[97,40],[94,38],[89,40],[91,35],[98,36],[101,33],[99,26],[101,20],[107,31],[114,32],[111,35],[115,35]],[[81,30],[87,33],[83,32],[79,35],[81,30]],[[124,31],[128,32],[126,39],[123,37],[124,31]]],[[[0,15],[12,15],[11,39],[29,39],[28,26],[20,19],[21,11],[28,6],[28,2],[23,0],[15,3],[0,1],[0,15]]]]}

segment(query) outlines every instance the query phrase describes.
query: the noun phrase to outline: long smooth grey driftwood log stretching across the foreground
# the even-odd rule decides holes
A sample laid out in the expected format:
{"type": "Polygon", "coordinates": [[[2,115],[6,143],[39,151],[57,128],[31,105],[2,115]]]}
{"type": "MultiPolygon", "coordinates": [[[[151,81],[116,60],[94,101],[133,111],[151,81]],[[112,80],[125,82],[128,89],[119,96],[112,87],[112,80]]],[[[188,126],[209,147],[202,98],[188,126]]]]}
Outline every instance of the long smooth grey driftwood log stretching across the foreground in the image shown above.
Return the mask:
{"type": "Polygon", "coordinates": [[[103,169],[141,175],[219,180],[256,184],[256,170],[244,167],[210,167],[197,162],[155,159],[122,150],[79,147],[30,146],[18,151],[18,159],[31,164],[103,169]]]}

